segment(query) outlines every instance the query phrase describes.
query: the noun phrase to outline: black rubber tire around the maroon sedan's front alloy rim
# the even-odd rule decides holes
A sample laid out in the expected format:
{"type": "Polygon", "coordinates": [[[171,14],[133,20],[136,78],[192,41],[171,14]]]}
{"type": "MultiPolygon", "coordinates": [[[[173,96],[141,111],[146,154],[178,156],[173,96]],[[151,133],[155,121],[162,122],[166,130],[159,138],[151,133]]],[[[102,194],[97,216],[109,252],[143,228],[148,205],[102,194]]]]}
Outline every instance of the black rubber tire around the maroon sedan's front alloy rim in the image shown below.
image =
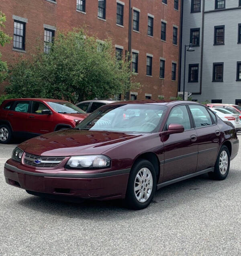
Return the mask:
{"type": "Polygon", "coordinates": [[[126,198],[125,198],[127,207],[129,209],[133,209],[133,210],[141,210],[141,209],[146,208],[151,203],[151,200],[153,199],[153,196],[156,191],[156,186],[157,186],[157,177],[156,177],[155,169],[154,169],[152,163],[145,159],[137,160],[135,162],[135,164],[133,165],[133,167],[131,168],[131,173],[130,173],[129,181],[128,181],[128,185],[127,185],[127,193],[126,193],[126,198]],[[152,185],[152,190],[149,195],[149,198],[145,202],[139,202],[135,195],[135,189],[134,189],[135,188],[135,180],[136,180],[136,176],[137,176],[138,172],[144,167],[148,168],[149,171],[151,172],[153,185],[152,185]]]}

